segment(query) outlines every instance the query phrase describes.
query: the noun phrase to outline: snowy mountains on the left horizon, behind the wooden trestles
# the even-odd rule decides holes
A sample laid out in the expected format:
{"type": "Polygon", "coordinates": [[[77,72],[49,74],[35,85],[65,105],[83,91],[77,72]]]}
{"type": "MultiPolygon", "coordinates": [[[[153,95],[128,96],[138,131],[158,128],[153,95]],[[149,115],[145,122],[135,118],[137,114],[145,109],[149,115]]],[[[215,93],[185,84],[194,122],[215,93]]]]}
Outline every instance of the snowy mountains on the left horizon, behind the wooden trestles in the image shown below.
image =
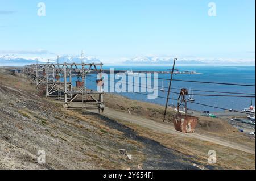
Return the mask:
{"type": "MultiPolygon", "coordinates": [[[[48,60],[45,58],[20,58],[14,55],[4,55],[0,56],[0,66],[1,64],[10,64],[10,65],[27,65],[27,64],[36,64],[39,63],[46,63],[48,60]]],[[[49,62],[57,63],[57,58],[55,60],[49,60],[49,62]]],[[[81,56],[61,56],[59,57],[59,63],[81,63],[81,56]]],[[[83,62],[101,62],[97,58],[93,57],[84,57],[83,62]]]]}

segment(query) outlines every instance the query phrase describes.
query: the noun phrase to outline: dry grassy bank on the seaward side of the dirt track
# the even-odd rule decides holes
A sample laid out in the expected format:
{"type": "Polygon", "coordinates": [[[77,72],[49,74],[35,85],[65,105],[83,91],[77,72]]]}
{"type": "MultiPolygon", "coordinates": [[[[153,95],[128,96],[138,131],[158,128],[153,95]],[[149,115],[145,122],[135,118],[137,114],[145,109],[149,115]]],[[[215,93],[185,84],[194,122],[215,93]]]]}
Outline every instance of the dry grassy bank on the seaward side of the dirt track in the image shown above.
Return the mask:
{"type": "MultiPolygon", "coordinates": [[[[163,121],[164,107],[158,104],[131,100],[115,94],[105,94],[104,101],[107,107],[114,110],[128,112],[129,109],[133,115],[145,117],[159,123],[162,123],[163,121]]],[[[167,110],[167,120],[172,120],[173,115],[176,115],[176,112],[167,110]]],[[[252,141],[251,138],[240,133],[238,129],[230,125],[228,121],[205,116],[198,117],[199,121],[196,127],[196,132],[206,135],[210,134],[239,144],[255,146],[255,142],[252,141]]]]}

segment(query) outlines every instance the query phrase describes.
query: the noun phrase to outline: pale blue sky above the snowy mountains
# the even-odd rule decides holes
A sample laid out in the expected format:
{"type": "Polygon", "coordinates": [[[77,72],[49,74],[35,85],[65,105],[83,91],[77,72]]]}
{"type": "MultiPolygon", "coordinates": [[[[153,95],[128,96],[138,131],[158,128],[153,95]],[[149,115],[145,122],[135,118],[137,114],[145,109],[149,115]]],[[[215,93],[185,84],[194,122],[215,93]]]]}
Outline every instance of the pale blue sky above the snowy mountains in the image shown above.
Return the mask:
{"type": "Polygon", "coordinates": [[[0,0],[0,54],[255,60],[255,0],[0,0]],[[38,3],[46,16],[38,16],[38,3]],[[217,16],[208,15],[216,3],[217,16]]]}

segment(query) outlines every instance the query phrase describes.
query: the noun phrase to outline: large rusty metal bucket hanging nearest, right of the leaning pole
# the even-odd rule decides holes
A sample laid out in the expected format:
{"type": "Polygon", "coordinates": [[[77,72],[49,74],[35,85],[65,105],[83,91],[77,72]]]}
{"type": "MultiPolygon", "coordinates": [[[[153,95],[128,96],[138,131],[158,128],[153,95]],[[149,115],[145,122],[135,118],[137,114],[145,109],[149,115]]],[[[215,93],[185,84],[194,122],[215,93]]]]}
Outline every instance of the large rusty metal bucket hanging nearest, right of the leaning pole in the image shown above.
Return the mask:
{"type": "Polygon", "coordinates": [[[177,115],[174,116],[174,127],[176,131],[183,133],[195,133],[198,117],[177,115]]]}

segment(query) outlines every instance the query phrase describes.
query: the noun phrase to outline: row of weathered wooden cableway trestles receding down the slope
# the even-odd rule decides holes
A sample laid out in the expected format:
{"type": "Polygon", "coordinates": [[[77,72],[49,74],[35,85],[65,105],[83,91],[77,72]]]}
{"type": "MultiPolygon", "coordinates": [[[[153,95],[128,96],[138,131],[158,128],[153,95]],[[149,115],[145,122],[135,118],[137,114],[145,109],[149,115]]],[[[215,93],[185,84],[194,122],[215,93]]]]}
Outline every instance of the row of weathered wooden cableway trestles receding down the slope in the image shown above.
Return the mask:
{"type": "Polygon", "coordinates": [[[31,84],[45,92],[47,98],[63,101],[68,109],[104,111],[103,64],[31,64],[23,69],[31,84]],[[97,73],[97,91],[88,89],[86,76],[97,73]],[[75,81],[77,77],[77,81],[75,81]],[[74,84],[75,82],[75,84],[74,84]]]}

